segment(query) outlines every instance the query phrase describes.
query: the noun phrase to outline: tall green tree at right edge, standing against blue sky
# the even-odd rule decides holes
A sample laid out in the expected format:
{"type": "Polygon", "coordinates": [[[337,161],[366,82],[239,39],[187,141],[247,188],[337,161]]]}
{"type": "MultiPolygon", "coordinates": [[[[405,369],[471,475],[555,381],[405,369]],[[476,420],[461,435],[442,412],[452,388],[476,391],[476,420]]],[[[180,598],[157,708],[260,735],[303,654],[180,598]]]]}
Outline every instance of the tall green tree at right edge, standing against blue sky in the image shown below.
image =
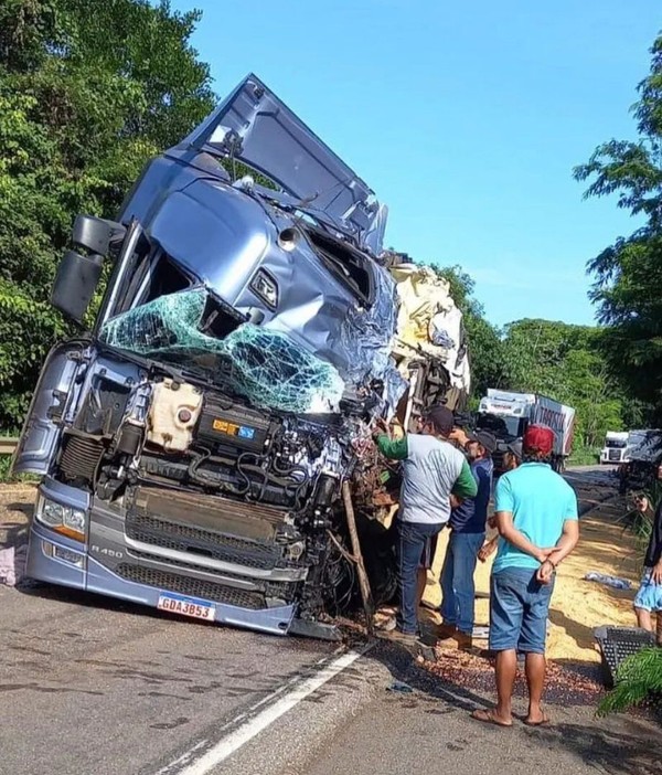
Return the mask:
{"type": "Polygon", "coordinates": [[[575,178],[586,197],[616,194],[619,208],[642,225],[589,263],[591,298],[607,326],[602,344],[640,414],[660,422],[662,411],[662,35],[651,49],[649,75],[633,106],[638,139],[598,146],[575,178]],[[648,412],[645,410],[649,410],[648,412]]]}

